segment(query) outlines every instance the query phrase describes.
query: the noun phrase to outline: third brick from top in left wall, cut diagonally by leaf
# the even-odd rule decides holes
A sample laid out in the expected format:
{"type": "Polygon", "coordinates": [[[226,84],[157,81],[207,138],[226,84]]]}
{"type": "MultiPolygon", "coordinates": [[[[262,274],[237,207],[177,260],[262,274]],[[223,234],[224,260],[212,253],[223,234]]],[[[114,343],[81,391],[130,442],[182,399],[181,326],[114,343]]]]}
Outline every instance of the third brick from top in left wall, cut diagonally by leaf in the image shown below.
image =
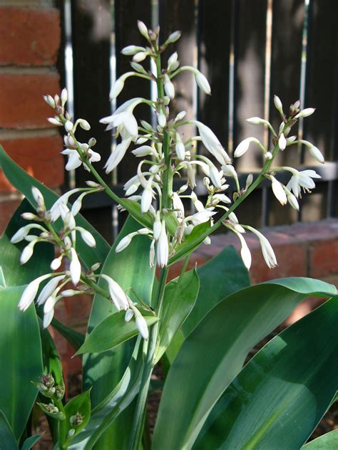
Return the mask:
{"type": "MultiPolygon", "coordinates": [[[[1,144],[19,166],[48,187],[63,183],[63,148],[61,136],[2,140],[1,144]]],[[[0,174],[0,192],[14,192],[4,174],[0,174]]]]}

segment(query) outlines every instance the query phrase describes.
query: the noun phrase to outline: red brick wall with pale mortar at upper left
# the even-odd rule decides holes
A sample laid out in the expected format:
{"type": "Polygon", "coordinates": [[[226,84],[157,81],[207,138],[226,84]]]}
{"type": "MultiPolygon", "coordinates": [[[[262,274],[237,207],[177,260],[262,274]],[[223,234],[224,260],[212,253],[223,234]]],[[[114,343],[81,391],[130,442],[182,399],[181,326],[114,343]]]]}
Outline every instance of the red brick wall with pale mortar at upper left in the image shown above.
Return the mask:
{"type": "MultiPolygon", "coordinates": [[[[50,1],[1,1],[0,144],[52,189],[63,182],[62,139],[47,121],[52,111],[42,95],[60,91],[60,36],[59,11],[50,1]]],[[[0,173],[0,233],[20,200],[0,173]]]]}

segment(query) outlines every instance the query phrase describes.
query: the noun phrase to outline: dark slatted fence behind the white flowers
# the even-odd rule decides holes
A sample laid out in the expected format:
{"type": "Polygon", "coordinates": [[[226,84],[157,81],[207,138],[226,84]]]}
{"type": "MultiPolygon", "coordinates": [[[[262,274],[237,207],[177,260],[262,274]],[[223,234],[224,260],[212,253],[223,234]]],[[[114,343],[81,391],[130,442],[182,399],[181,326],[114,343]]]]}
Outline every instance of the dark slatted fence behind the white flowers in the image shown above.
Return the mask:
{"type": "MultiPolygon", "coordinates": [[[[103,160],[113,142],[98,120],[116,106],[108,100],[111,83],[129,68],[129,58],[121,55],[121,48],[144,45],[137,19],[148,26],[159,23],[163,37],[177,29],[183,32],[176,45],[180,63],[200,68],[212,88],[212,95],[205,96],[195,89],[191,75],[183,73],[175,86],[175,110],[187,110],[190,117],[212,127],[230,155],[245,137],[269,142],[266,130],[245,119],[260,116],[278,126],[274,93],[285,106],[299,99],[303,107],[317,108],[304,123],[299,122],[297,132],[322,150],[327,163],[318,167],[297,146],[285,151],[279,161],[293,167],[315,166],[322,179],[314,193],[304,196],[297,214],[289,206],[281,208],[263,184],[239,216],[249,214],[250,222],[258,227],[337,216],[336,0],[65,0],[58,5],[64,31],[59,58],[62,82],[73,91],[75,117],[91,123],[103,160]]],[[[149,98],[150,91],[147,82],[130,78],[118,104],[135,96],[149,98]]],[[[149,114],[146,108],[138,110],[138,117],[148,121],[149,114]]],[[[129,153],[113,174],[104,175],[118,194],[122,194],[123,182],[135,174],[137,164],[129,153]]],[[[260,167],[260,152],[247,152],[237,162],[243,178],[260,167]]],[[[81,184],[88,174],[77,170],[75,177],[68,182],[81,184]]],[[[198,189],[203,194],[202,183],[198,189]]],[[[93,196],[85,206],[86,216],[111,238],[120,220],[111,200],[93,196]]]]}

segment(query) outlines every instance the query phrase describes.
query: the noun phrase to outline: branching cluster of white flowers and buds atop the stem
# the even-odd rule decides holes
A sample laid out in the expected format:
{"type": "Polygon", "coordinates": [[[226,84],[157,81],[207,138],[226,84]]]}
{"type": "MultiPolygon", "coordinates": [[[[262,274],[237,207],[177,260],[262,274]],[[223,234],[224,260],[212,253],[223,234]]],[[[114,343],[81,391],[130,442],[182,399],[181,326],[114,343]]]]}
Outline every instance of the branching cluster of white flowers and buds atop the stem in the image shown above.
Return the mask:
{"type": "MultiPolygon", "coordinates": [[[[118,97],[126,81],[132,76],[155,83],[157,98],[156,100],[132,98],[119,106],[112,115],[103,117],[101,122],[107,125],[107,130],[113,130],[118,142],[104,166],[107,173],[116,169],[130,148],[133,155],[140,158],[137,173],[126,182],[124,191],[126,198],[133,204],[137,204],[140,214],[150,217],[150,221],[148,220],[146,226],[143,224],[143,228],[138,231],[123,237],[116,246],[116,252],[123,251],[133,239],[137,239],[137,236],[145,235],[150,240],[150,266],[157,264],[160,268],[164,268],[168,266],[169,258],[175,255],[180,248],[180,244],[188,239],[196,226],[208,225],[208,228],[205,228],[208,231],[205,232],[200,242],[210,244],[208,234],[218,226],[223,225],[240,239],[242,260],[248,269],[251,265],[251,255],[244,237],[247,231],[252,232],[259,239],[267,266],[275,267],[277,265],[275,253],[265,236],[252,226],[240,224],[234,211],[237,205],[257,187],[264,177],[271,182],[272,192],[282,205],[289,202],[292,208],[299,209],[298,199],[301,197],[302,189],[304,192],[313,189],[313,179],[319,178],[319,174],[314,170],[298,171],[292,167],[272,167],[272,164],[278,152],[292,148],[293,145],[305,145],[312,157],[321,163],[324,162],[324,157],[317,147],[314,147],[308,141],[297,140],[295,135],[290,135],[297,120],[311,115],[314,109],[300,110],[299,101],[297,101],[290,106],[289,114],[285,115],[282,102],[275,96],[275,108],[281,118],[278,131],[274,130],[270,122],[260,117],[248,119],[248,122],[252,125],[262,125],[270,129],[272,148],[265,148],[255,137],[247,137],[240,142],[235,149],[234,157],[241,157],[249,150],[250,145],[255,144],[262,151],[264,162],[260,175],[254,179],[252,174],[249,174],[245,186],[241,187],[230,156],[210,127],[198,120],[187,119],[185,111],[181,111],[175,116],[170,114],[170,103],[175,98],[175,77],[183,71],[193,73],[198,88],[206,94],[210,94],[211,91],[207,78],[198,69],[191,66],[180,66],[178,53],[174,52],[169,56],[165,68],[161,66],[162,53],[170,43],[180,38],[180,32],[172,33],[165,43],[160,45],[158,30],[148,29],[141,21],[138,21],[138,28],[147,41],[147,45],[123,48],[122,53],[124,55],[132,56],[130,66],[133,70],[116,80],[111,88],[111,99],[118,97]],[[141,64],[146,58],[153,61],[153,66],[156,68],[154,72],[147,70],[141,64]],[[148,105],[152,110],[155,125],[150,125],[145,120],[138,122],[134,110],[140,104],[148,105]],[[183,125],[191,125],[196,135],[186,140],[181,132],[183,125]],[[203,144],[206,150],[205,154],[195,154],[195,142],[203,144]],[[203,184],[206,194],[204,203],[198,199],[195,193],[196,169],[204,176],[203,184]],[[286,185],[277,179],[277,174],[280,171],[288,171],[292,175],[286,185]],[[174,179],[178,177],[186,181],[175,190],[174,179]],[[235,179],[236,191],[232,196],[227,194],[228,177],[235,179]],[[193,205],[193,211],[186,211],[187,200],[193,205]],[[174,226],[169,226],[169,222],[174,226]]],[[[77,233],[81,234],[83,241],[88,246],[95,246],[93,236],[80,226],[76,226],[75,216],[81,209],[81,202],[85,195],[103,189],[120,204],[120,209],[128,209],[130,202],[118,199],[94,169],[92,163],[101,160],[101,156],[92,150],[96,140],[91,137],[88,142],[82,143],[76,139],[78,126],[84,130],[90,130],[91,127],[84,119],[78,119],[74,122],[68,114],[66,111],[66,90],[62,90],[60,97],[58,95],[54,97],[46,95],[44,99],[55,112],[55,115],[48,120],[54,125],[64,127],[66,130],[64,137],[66,149],[62,152],[63,155],[68,156],[66,169],[73,170],[83,164],[96,177],[96,182],[90,181],[87,182],[88,187],[86,188],[77,188],[66,192],[51,206],[50,210],[46,209],[41,192],[33,188],[37,215],[24,214],[24,217],[34,220],[34,223],[21,228],[12,238],[14,243],[22,239],[29,241],[21,254],[21,263],[29,260],[37,242],[48,241],[58,246],[61,252],[60,256],[52,261],[51,269],[56,271],[61,266],[63,258],[67,259],[69,267],[66,271],[48,273],[32,281],[24,291],[19,308],[22,310],[28,308],[36,298],[40,283],[50,278],[37,299],[39,305],[44,305],[43,324],[47,326],[51,322],[53,307],[59,298],[88,290],[102,293],[102,289],[98,288],[97,285],[97,279],[101,278],[108,285],[106,296],[113,300],[118,311],[126,310],[127,321],[135,318],[140,334],[147,339],[148,328],[137,304],[130,300],[126,292],[113,278],[105,274],[96,275],[97,266],[93,266],[87,272],[83,271],[76,253],[77,233]],[[67,206],[68,199],[75,193],[78,193],[79,196],[70,209],[67,206]],[[63,221],[63,226],[56,233],[53,223],[59,218],[63,221]],[[39,236],[30,234],[33,229],[39,232],[39,236]],[[73,282],[76,290],[61,291],[68,281],[73,282]],[[80,281],[81,286],[79,285],[80,281]]],[[[142,223],[142,220],[140,222],[142,223]]]]}

